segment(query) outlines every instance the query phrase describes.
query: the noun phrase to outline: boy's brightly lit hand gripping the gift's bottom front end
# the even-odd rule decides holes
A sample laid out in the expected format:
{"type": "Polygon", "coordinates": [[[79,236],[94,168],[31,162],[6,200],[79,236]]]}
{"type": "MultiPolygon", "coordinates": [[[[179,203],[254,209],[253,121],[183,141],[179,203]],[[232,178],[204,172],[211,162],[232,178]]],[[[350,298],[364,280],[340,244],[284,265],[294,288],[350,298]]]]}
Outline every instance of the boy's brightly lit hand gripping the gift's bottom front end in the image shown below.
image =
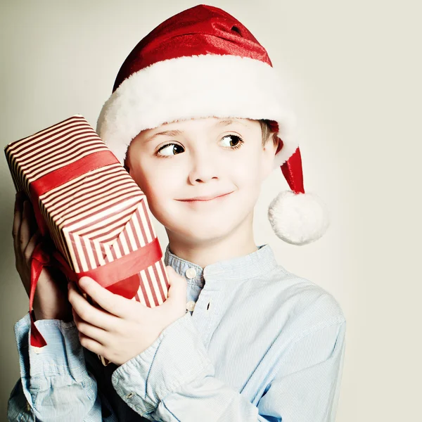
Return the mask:
{"type": "Polygon", "coordinates": [[[186,314],[186,280],[166,267],[168,298],[158,307],[123,298],[101,287],[90,277],[79,279],[79,287],[102,309],[91,305],[69,283],[69,301],[82,346],[122,365],[146,350],[170,324],[186,314]]]}

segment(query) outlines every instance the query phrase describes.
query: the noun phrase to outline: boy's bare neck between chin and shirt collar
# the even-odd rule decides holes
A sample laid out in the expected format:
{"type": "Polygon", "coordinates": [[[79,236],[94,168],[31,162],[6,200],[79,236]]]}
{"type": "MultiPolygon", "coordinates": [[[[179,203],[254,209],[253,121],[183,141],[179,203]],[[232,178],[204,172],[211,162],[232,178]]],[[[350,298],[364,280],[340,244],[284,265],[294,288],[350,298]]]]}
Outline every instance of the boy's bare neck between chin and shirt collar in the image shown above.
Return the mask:
{"type": "Polygon", "coordinates": [[[174,255],[201,268],[215,262],[249,255],[258,249],[253,238],[252,224],[248,230],[239,227],[231,236],[206,243],[189,243],[186,238],[178,238],[170,231],[167,231],[167,235],[170,251],[174,255]]]}

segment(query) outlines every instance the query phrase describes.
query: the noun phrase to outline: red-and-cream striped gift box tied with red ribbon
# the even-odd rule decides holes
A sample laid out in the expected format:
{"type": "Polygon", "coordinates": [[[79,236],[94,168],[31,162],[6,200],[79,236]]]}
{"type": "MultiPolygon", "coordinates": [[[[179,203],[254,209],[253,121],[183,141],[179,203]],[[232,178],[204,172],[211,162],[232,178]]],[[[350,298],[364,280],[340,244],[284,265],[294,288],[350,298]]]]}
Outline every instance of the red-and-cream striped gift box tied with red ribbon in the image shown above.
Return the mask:
{"type": "MultiPolygon", "coordinates": [[[[32,255],[31,317],[36,279],[49,264],[148,307],[165,301],[169,282],[146,196],[82,115],[13,141],[5,153],[16,191],[30,198],[55,246],[32,255]]],[[[33,319],[30,341],[46,345],[33,319]]]]}

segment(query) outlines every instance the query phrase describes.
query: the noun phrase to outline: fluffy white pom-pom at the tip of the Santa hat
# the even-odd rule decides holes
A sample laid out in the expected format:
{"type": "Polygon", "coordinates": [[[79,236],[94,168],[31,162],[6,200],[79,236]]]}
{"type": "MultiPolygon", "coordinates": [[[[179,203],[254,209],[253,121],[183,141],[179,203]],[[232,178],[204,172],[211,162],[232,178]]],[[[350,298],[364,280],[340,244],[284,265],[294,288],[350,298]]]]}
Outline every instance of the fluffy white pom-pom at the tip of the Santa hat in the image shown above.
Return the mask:
{"type": "Polygon", "coordinates": [[[329,226],[326,206],[313,193],[279,193],[269,205],[268,219],[275,234],[292,245],[316,241],[329,226]]]}

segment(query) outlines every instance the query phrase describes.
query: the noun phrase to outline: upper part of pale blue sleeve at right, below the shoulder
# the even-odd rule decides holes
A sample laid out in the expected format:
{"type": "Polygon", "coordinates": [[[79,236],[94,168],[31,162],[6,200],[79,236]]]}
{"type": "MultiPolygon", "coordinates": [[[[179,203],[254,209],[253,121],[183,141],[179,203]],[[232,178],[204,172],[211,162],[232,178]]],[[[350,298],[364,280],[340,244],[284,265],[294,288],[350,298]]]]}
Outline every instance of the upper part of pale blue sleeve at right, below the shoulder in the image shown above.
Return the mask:
{"type": "Polygon", "coordinates": [[[335,422],[345,329],[345,319],[335,319],[295,340],[258,402],[260,414],[269,421],[335,422]]]}

